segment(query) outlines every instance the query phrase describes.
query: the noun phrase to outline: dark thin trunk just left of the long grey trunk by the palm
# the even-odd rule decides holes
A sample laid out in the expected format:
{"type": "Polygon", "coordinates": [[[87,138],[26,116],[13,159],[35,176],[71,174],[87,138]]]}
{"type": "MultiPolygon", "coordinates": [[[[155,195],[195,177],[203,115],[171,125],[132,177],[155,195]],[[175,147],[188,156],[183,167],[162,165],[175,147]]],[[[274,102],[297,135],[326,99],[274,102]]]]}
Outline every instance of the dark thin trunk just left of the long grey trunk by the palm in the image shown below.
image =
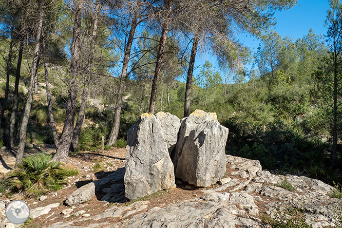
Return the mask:
{"type": "Polygon", "coordinates": [[[19,51],[18,51],[18,61],[16,63],[16,72],[15,72],[15,83],[14,83],[14,93],[13,93],[13,104],[12,104],[12,111],[11,111],[11,118],[10,118],[10,125],[9,125],[9,147],[14,147],[14,125],[15,125],[15,116],[16,111],[18,108],[18,88],[19,88],[19,79],[20,79],[20,70],[22,67],[22,59],[23,59],[23,48],[24,42],[23,40],[20,41],[19,51]]]}

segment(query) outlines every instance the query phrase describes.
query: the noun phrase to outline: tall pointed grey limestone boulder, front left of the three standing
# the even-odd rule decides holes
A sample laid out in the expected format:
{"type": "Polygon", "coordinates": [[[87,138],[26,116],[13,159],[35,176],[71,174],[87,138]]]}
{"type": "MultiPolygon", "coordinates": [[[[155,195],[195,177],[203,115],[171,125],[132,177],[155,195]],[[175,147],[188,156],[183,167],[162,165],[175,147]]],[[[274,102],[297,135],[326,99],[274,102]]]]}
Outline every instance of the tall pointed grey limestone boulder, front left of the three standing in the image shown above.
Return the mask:
{"type": "Polygon", "coordinates": [[[127,134],[125,194],[130,200],[175,185],[174,166],[157,118],[144,113],[127,134]]]}

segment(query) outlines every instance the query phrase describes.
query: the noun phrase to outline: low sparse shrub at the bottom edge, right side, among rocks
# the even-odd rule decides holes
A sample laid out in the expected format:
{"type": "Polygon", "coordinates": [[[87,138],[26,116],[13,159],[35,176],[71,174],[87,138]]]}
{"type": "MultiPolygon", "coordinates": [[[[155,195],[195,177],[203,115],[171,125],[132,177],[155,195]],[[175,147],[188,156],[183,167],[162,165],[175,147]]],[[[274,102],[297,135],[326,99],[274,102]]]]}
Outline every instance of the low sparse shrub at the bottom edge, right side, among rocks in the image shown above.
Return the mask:
{"type": "Polygon", "coordinates": [[[272,228],[312,228],[311,224],[305,222],[305,215],[298,208],[287,208],[285,212],[277,208],[274,218],[263,218],[262,221],[272,228]]]}

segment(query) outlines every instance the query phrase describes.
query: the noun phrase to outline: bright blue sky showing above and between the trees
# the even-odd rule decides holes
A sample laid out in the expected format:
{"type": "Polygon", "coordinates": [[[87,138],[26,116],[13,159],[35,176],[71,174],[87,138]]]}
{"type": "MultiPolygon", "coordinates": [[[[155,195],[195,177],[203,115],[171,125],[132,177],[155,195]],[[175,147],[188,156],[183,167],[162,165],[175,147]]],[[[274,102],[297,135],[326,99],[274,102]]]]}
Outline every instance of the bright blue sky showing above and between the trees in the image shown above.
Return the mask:
{"type": "MultiPolygon", "coordinates": [[[[324,24],[328,8],[328,0],[299,0],[291,9],[277,11],[274,14],[277,24],[272,29],[282,37],[291,36],[294,41],[308,34],[310,28],[316,34],[326,34],[324,24]]],[[[245,34],[238,37],[253,53],[257,50],[259,41],[255,37],[245,34]]],[[[194,71],[194,75],[198,74],[200,66],[206,60],[216,65],[216,57],[211,54],[199,53],[196,57],[195,66],[199,67],[194,71]]],[[[246,65],[246,68],[250,69],[251,66],[252,64],[246,65]]]]}

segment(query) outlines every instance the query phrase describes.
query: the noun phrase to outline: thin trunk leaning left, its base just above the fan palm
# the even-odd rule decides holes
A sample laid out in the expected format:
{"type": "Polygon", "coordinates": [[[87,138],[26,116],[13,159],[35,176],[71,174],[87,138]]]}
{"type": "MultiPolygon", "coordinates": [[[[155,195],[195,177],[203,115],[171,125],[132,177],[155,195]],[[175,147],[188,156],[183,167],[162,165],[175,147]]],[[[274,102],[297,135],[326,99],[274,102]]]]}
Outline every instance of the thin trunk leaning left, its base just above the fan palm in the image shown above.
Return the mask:
{"type": "Polygon", "coordinates": [[[46,59],[46,45],[45,42],[43,41],[43,62],[44,62],[44,76],[45,76],[45,88],[46,88],[46,100],[47,100],[47,105],[48,105],[48,116],[50,120],[50,128],[52,130],[52,136],[53,136],[53,142],[55,147],[58,147],[59,144],[59,138],[57,135],[56,131],[56,126],[54,123],[54,118],[53,118],[53,110],[52,110],[52,103],[51,103],[51,94],[50,94],[50,83],[49,83],[49,71],[48,71],[48,63],[46,59]]]}

